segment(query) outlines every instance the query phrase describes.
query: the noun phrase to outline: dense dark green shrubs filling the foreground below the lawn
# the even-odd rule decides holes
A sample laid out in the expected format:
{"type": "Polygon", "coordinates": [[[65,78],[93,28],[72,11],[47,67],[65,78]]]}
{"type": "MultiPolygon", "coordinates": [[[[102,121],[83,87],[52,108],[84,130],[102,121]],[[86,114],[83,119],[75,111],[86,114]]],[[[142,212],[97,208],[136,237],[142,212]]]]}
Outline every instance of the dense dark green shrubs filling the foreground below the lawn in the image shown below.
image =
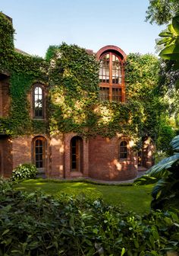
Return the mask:
{"type": "Polygon", "coordinates": [[[146,216],[102,200],[24,194],[1,181],[1,255],[165,255],[178,251],[177,211],[146,216]]]}

